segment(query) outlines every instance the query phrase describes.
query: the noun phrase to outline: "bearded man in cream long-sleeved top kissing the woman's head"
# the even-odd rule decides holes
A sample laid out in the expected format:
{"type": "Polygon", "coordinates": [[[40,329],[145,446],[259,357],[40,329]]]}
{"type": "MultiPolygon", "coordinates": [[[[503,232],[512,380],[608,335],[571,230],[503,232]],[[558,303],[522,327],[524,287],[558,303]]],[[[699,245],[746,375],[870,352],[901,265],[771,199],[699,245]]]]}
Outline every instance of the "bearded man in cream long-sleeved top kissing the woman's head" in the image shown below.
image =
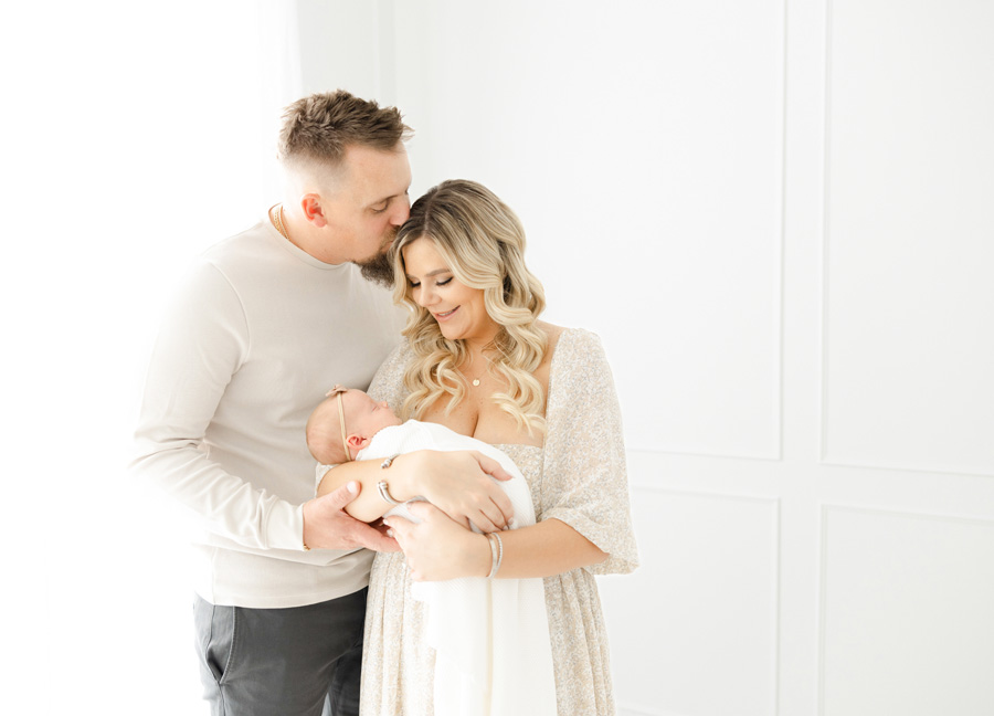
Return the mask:
{"type": "MultiPolygon", "coordinates": [[[[332,385],[366,388],[400,338],[389,292],[360,272],[392,276],[409,135],[395,108],[346,92],[292,104],[284,201],[200,257],[156,344],[133,468],[194,517],[195,643],[214,714],[318,716],[326,694],[336,716],[358,714],[372,559],[358,548],[396,545],[342,512],[357,483],[313,499],[304,427],[332,385]]],[[[479,480],[503,476],[493,465],[405,455],[391,470],[425,467],[448,486],[476,480],[469,492],[509,516],[479,480]]]]}

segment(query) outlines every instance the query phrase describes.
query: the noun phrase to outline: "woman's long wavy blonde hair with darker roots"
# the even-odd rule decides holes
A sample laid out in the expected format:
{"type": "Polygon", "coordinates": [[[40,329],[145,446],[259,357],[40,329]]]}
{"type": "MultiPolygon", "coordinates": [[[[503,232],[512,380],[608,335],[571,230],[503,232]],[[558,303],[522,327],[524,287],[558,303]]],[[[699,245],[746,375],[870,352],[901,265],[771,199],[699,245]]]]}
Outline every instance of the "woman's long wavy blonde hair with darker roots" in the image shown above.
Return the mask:
{"type": "Polygon", "coordinates": [[[419,239],[434,244],[459,283],[483,289],[487,313],[499,326],[487,347],[487,370],[508,385],[506,392],[493,398],[519,430],[529,435],[544,432],[544,394],[532,373],[546,354],[546,334],[536,323],[546,295],[525,265],[525,230],[494,192],[462,179],[444,181],[415,201],[391,249],[393,298],[412,312],[403,331],[414,350],[404,373],[411,393],[401,417],[421,418],[445,394],[450,396],[447,414],[469,388],[456,370],[468,357],[466,346],[445,338],[438,322],[411,296],[403,250],[419,239]]]}

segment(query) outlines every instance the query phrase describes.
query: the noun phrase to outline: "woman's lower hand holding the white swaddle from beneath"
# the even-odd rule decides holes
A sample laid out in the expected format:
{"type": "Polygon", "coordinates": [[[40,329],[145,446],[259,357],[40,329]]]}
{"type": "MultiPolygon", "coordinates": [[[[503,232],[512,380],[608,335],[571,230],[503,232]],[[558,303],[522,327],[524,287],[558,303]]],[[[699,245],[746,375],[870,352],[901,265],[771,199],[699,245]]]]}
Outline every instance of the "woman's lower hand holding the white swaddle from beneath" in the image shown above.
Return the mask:
{"type": "Polygon", "coordinates": [[[469,531],[429,503],[410,503],[408,509],[420,524],[399,516],[383,522],[404,551],[411,579],[445,581],[489,573],[490,545],[484,535],[469,531]]]}

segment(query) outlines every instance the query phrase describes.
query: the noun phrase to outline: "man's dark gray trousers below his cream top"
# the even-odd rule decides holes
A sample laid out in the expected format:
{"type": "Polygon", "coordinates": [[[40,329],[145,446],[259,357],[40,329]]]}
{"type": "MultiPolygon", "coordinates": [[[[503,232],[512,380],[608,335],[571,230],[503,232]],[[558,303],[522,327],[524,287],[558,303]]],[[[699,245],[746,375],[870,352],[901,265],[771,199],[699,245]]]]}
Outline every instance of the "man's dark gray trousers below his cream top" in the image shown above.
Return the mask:
{"type": "Polygon", "coordinates": [[[330,716],[358,716],[366,593],[289,609],[215,607],[194,596],[211,714],[321,716],[327,696],[330,716]]]}

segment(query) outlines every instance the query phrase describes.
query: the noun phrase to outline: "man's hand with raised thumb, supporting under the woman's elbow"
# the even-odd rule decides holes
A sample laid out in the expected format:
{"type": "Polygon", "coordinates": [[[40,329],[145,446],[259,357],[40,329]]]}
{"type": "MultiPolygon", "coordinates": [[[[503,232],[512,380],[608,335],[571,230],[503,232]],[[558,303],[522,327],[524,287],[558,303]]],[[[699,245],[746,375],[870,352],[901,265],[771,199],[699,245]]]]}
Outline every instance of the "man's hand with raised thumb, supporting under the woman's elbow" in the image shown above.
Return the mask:
{"type": "Polygon", "coordinates": [[[359,483],[352,481],[304,503],[304,544],[311,549],[366,547],[376,551],[399,551],[395,540],[342,510],[359,496],[359,483]]]}

